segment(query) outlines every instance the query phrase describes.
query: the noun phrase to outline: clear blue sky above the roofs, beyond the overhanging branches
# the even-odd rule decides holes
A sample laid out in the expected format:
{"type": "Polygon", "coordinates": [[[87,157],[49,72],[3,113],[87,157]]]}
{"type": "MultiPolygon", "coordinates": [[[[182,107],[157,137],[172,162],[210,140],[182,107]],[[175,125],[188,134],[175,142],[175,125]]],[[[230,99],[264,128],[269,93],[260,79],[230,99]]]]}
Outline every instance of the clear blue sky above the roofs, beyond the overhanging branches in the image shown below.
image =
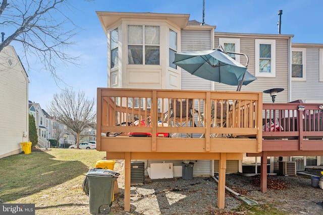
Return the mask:
{"type": "MultiPolygon", "coordinates": [[[[203,0],[71,2],[77,10],[66,12],[67,16],[82,29],[68,51],[80,56],[80,64],[61,68],[58,75],[62,82],[55,82],[49,71],[37,66],[27,71],[29,100],[45,110],[53,94],[62,89],[72,87],[75,92],[84,91],[86,97],[96,101],[96,89],[107,86],[107,40],[96,11],[189,14],[189,20],[199,22],[203,18],[203,0]]],[[[216,32],[278,34],[279,10],[283,10],[281,34],[294,35],[293,43],[323,44],[321,0],[205,0],[204,22],[217,26],[216,32]]],[[[23,54],[19,49],[16,52],[23,54]]]]}

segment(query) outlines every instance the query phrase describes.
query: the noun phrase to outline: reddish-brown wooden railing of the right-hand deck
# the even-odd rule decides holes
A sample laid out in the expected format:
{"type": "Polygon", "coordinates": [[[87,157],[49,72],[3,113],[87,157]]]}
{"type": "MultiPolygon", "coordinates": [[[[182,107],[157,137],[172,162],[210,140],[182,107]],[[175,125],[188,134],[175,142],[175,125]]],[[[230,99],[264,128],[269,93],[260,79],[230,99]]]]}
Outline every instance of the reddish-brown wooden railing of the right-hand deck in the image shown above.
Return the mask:
{"type": "Polygon", "coordinates": [[[263,151],[322,151],[323,106],[263,104],[263,151]]]}

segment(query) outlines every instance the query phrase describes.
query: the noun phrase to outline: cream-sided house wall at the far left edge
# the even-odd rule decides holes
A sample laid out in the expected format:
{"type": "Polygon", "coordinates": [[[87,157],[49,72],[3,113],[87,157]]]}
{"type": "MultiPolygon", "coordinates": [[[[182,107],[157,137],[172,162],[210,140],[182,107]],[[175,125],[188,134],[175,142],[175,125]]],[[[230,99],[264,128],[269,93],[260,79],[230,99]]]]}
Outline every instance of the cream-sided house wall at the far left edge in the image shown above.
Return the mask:
{"type": "Polygon", "coordinates": [[[0,52],[0,158],[20,153],[20,143],[29,139],[28,85],[14,47],[5,47],[0,52]]]}

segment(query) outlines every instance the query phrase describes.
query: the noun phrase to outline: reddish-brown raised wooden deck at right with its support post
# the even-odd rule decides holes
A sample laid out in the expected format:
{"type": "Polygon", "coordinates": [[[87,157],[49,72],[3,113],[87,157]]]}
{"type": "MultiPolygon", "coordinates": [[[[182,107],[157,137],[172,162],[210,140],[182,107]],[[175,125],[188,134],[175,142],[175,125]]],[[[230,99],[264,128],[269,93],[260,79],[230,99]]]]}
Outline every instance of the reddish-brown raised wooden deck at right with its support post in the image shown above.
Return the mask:
{"type": "Polygon", "coordinates": [[[276,121],[279,126],[273,130],[265,126],[262,152],[247,153],[247,156],[261,157],[260,189],[266,192],[267,157],[323,156],[323,106],[295,101],[263,104],[262,107],[263,124],[276,121]]]}

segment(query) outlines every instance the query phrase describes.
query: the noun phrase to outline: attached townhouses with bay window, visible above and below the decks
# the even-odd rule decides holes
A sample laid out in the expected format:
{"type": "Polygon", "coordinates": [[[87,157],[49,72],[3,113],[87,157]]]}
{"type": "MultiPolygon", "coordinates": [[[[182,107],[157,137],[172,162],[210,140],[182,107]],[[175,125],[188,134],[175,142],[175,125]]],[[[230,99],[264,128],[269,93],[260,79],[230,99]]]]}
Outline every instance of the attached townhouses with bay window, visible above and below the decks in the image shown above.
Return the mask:
{"type": "MultiPolygon", "coordinates": [[[[216,26],[188,21],[188,14],[97,12],[108,41],[107,87],[144,89],[182,89],[235,91],[235,86],[207,81],[174,65],[175,52],[218,48],[245,53],[249,57],[247,70],[257,80],[242,87],[242,91],[262,92],[283,88],[276,103],[301,99],[323,102],[323,44],[293,44],[294,35],[246,34],[216,32],[216,26]],[[265,66],[266,65],[266,66],[265,66]]],[[[246,58],[232,55],[246,64],[246,58]]],[[[272,97],[263,93],[263,103],[272,97]]],[[[285,160],[292,158],[284,158],[285,160]]],[[[319,166],[320,157],[315,159],[319,166]]],[[[270,171],[279,157],[268,158],[270,171]]],[[[150,163],[164,160],[148,160],[150,163]]],[[[180,166],[182,161],[168,161],[180,166]]],[[[194,161],[194,176],[210,175],[219,168],[218,161],[194,161]]],[[[323,161],[322,161],[323,163],[323,161]]],[[[227,172],[258,173],[259,158],[231,161],[227,172]]],[[[306,165],[306,163],[305,163],[306,165]]],[[[309,165],[312,166],[312,165],[309,165]]]]}

